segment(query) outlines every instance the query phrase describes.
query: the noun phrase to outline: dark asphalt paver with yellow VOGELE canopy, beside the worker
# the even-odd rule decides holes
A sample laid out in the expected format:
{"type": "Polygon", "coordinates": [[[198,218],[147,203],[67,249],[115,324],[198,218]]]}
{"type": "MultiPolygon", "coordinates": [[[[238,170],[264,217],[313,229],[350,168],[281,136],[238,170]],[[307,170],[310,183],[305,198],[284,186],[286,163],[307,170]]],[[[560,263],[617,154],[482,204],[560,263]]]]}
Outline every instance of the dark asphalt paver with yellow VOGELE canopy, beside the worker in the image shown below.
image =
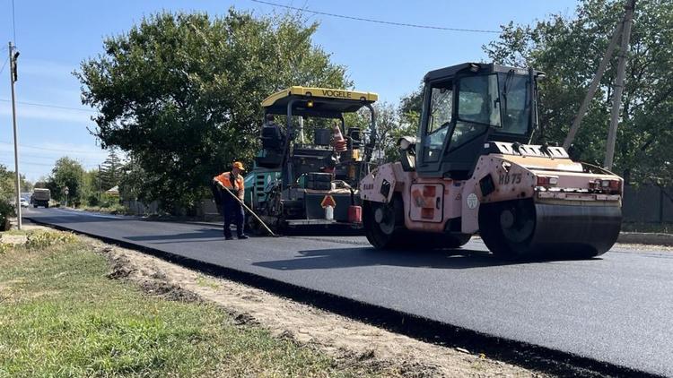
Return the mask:
{"type": "Polygon", "coordinates": [[[262,102],[262,148],[245,178],[244,198],[270,228],[362,228],[353,208],[360,206],[360,180],[375,166],[370,130],[377,99],[366,91],[295,86],[262,102]],[[349,125],[345,115],[361,109],[369,110],[370,125],[349,125]]]}

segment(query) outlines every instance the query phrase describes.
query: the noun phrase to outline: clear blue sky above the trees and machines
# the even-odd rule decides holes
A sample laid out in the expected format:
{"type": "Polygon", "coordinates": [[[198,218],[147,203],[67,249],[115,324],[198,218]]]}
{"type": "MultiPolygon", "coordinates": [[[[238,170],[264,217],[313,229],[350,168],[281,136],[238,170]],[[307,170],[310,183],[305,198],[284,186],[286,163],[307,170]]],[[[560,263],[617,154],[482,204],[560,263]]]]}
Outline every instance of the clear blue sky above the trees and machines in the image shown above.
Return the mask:
{"type": "MultiPolygon", "coordinates": [[[[355,17],[450,28],[499,30],[509,21],[529,23],[550,13],[571,16],[576,0],[447,1],[289,1],[273,3],[355,17]]],[[[80,86],[71,74],[79,63],[101,52],[107,36],[128,30],[144,15],[170,11],[223,14],[230,6],[258,14],[284,12],[267,4],[238,1],[21,1],[15,0],[19,58],[18,106],[20,170],[30,180],[47,176],[64,155],[87,169],[107,156],[87,131],[94,129],[80,101],[80,86]],[[57,107],[37,107],[28,103],[57,107]]],[[[482,45],[496,34],[415,29],[344,20],[306,13],[320,22],[314,41],[345,64],[360,90],[378,92],[392,103],[415,90],[424,73],[442,66],[485,59],[482,45]],[[357,30],[354,33],[354,30],[357,30]]],[[[0,0],[0,67],[13,39],[12,0],[0,0]]],[[[8,68],[0,74],[0,164],[13,169],[12,118],[8,68]]]]}

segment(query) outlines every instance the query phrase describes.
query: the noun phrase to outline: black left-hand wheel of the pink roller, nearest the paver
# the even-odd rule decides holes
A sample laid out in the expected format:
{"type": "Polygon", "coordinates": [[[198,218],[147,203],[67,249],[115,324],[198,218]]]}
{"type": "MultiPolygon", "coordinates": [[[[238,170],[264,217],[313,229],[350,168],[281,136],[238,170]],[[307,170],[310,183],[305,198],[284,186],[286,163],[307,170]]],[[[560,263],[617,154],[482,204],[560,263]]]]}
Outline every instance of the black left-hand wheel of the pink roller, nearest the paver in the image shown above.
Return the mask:
{"type": "Polygon", "coordinates": [[[364,236],[377,249],[406,246],[402,237],[405,233],[404,222],[404,204],[398,195],[394,195],[390,203],[363,202],[364,236]],[[380,222],[376,220],[377,210],[384,213],[380,222]]]}

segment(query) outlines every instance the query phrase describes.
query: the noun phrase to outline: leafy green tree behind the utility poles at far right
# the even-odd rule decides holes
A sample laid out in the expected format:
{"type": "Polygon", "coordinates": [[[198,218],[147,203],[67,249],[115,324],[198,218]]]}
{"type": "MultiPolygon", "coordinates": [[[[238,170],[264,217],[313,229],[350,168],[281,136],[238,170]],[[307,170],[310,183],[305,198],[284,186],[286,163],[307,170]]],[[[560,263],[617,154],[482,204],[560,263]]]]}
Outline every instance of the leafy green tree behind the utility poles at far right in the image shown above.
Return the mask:
{"type": "MultiPolygon", "coordinates": [[[[571,17],[503,26],[485,46],[495,62],[546,72],[540,123],[563,142],[618,21],[623,0],[582,0],[571,17]]],[[[616,50],[616,55],[619,49],[616,50]]],[[[616,80],[616,55],[572,145],[574,158],[602,165],[616,80]]],[[[673,182],[673,2],[639,0],[635,8],[614,170],[632,182],[673,182]]]]}

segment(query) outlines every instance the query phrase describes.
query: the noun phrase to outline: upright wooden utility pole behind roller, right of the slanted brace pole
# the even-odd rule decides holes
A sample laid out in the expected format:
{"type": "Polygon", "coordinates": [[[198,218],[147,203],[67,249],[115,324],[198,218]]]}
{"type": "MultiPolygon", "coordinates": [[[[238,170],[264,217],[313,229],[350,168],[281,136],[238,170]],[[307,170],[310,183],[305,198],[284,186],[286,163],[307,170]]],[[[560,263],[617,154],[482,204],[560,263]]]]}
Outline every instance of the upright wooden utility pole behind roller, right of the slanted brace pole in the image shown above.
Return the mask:
{"type": "Polygon", "coordinates": [[[631,39],[631,24],[634,20],[635,0],[626,0],[626,15],[624,18],[624,30],[622,32],[622,47],[619,50],[619,64],[617,64],[617,76],[615,93],[612,97],[612,113],[610,115],[610,128],[607,131],[607,145],[605,162],[603,167],[612,169],[612,159],[615,157],[616,128],[619,123],[619,109],[622,107],[622,93],[624,92],[624,74],[626,70],[626,58],[628,57],[629,42],[631,39]]]}

